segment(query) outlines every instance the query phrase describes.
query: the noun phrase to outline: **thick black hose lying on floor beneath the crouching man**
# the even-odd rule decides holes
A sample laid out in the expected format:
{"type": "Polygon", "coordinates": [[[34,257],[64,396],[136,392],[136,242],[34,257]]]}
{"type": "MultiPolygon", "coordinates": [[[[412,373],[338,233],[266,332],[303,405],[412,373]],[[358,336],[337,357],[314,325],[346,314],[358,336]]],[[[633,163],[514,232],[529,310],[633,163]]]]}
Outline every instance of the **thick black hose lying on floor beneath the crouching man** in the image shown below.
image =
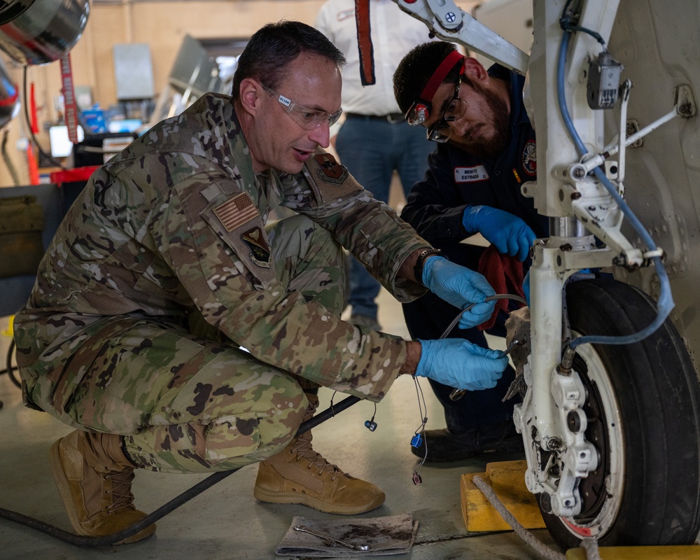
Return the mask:
{"type": "MultiPolygon", "coordinates": [[[[332,405],[328,409],[325,409],[323,412],[319,412],[313,418],[301,423],[301,425],[299,426],[299,430],[297,430],[297,435],[311,430],[311,428],[314,428],[314,426],[318,426],[318,424],[320,424],[321,422],[325,422],[332,416],[335,416],[338,412],[342,412],[346,408],[351,407],[359,400],[359,397],[351,395],[341,400],[337,405],[332,405]]],[[[173,510],[176,510],[178,507],[183,505],[183,503],[188,502],[198,494],[202,493],[204,490],[210,488],[211,486],[214,486],[214,484],[216,484],[217,482],[220,482],[229,475],[232,475],[237,470],[238,469],[225,470],[221,472],[215,472],[213,475],[209,475],[209,477],[202,480],[202,482],[195,484],[194,486],[192,486],[192,488],[187,489],[179,496],[176,496],[165,505],[159,507],[158,510],[155,510],[155,512],[148,514],[146,517],[144,517],[144,519],[141,519],[141,521],[137,521],[132,526],[129,526],[123,529],[122,531],[119,531],[119,533],[114,533],[113,535],[106,535],[104,537],[85,537],[75,535],[73,533],[63,531],[62,529],[59,529],[56,526],[49,525],[48,523],[44,523],[43,521],[39,521],[38,519],[27,517],[26,515],[22,515],[21,513],[13,512],[10,510],[5,510],[1,507],[0,517],[34,528],[37,531],[41,531],[42,533],[46,533],[47,535],[51,535],[52,537],[63,540],[64,542],[68,542],[71,545],[77,545],[79,547],[102,547],[107,545],[113,545],[116,542],[120,542],[131,537],[132,535],[135,535],[136,533],[139,533],[139,531],[142,531],[144,528],[155,523],[155,521],[158,521],[158,519],[165,517],[165,515],[169,514],[173,510]]]]}

